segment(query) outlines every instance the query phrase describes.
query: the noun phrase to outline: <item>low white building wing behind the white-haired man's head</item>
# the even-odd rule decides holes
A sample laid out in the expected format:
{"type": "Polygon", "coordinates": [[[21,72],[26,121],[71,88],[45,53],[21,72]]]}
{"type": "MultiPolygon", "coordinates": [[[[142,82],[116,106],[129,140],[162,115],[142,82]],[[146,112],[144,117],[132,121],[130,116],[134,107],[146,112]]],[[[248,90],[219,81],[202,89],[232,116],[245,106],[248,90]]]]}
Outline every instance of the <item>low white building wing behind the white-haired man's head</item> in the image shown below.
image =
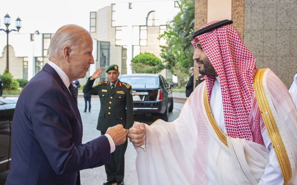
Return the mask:
{"type": "MultiPolygon", "coordinates": [[[[54,33],[11,34],[9,40],[9,71],[14,78],[30,80],[48,62],[48,47],[54,33]]],[[[0,74],[6,68],[6,35],[0,35],[0,74]],[[4,37],[5,36],[5,37],[4,37]]],[[[121,47],[114,50],[122,52],[121,47]]],[[[95,64],[90,66],[86,78],[92,74],[100,64],[109,63],[110,43],[93,39],[93,56],[95,64]]],[[[86,83],[86,78],[79,79],[80,83],[86,83]]]]}

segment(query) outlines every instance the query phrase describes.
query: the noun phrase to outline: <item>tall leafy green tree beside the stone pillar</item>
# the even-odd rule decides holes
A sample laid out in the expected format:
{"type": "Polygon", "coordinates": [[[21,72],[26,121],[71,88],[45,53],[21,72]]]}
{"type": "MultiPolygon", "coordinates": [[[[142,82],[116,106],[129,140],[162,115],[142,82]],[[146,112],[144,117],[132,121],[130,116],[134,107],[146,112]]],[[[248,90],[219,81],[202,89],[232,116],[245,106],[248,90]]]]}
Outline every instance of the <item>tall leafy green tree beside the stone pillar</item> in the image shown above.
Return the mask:
{"type": "Polygon", "coordinates": [[[191,44],[195,23],[195,1],[178,1],[180,12],[168,23],[167,30],[160,38],[167,40],[167,46],[161,46],[160,56],[167,63],[166,68],[181,82],[189,76],[189,67],[193,66],[194,49],[191,44]]]}

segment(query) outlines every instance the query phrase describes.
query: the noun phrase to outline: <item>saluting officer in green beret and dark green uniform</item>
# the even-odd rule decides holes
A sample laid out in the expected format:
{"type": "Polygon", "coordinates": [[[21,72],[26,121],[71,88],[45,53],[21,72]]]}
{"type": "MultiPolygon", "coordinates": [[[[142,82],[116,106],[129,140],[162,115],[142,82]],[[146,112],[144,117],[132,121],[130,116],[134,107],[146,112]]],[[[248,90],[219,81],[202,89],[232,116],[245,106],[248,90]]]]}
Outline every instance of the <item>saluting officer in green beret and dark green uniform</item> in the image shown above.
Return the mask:
{"type": "MultiPolygon", "coordinates": [[[[99,95],[101,108],[99,112],[97,130],[105,134],[108,127],[122,124],[129,129],[133,123],[133,99],[132,89],[127,83],[119,81],[119,67],[110,65],[106,69],[109,81],[99,81],[95,87],[93,83],[101,76],[103,68],[98,68],[88,79],[83,87],[83,93],[99,95]],[[127,109],[126,109],[127,108],[127,109]]],[[[105,165],[107,180],[104,185],[124,184],[124,154],[127,148],[127,140],[124,144],[116,146],[111,154],[110,163],[105,165]]]]}

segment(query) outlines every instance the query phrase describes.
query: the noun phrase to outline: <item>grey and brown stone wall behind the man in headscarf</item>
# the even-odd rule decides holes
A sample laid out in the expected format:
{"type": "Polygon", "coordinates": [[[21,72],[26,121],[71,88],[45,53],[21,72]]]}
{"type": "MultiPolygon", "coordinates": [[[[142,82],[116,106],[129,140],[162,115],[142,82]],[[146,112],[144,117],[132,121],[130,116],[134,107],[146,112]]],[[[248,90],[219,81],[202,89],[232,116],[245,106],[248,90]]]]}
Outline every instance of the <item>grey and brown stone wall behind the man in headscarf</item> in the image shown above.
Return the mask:
{"type": "Polygon", "coordinates": [[[233,20],[257,67],[270,68],[289,88],[297,72],[296,0],[195,0],[195,30],[224,19],[233,20]]]}

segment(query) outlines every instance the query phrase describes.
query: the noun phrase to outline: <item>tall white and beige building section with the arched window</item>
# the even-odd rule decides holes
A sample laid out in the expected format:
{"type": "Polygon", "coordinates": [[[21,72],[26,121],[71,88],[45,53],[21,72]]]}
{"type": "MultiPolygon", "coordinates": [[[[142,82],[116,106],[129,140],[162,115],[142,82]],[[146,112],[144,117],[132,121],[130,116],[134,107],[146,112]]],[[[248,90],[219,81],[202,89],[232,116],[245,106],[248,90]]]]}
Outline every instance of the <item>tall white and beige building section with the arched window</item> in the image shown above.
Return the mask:
{"type": "MultiPolygon", "coordinates": [[[[160,57],[160,45],[166,41],[159,36],[178,13],[176,1],[142,1],[111,4],[90,12],[92,38],[110,43],[110,63],[119,65],[121,74],[133,73],[131,59],[149,52],[160,57]],[[121,54],[116,52],[121,47],[121,54]]],[[[108,65],[101,65],[106,68],[108,65]]],[[[162,70],[161,75],[172,80],[172,74],[162,70]]],[[[100,78],[106,78],[102,76],[100,78]]]]}

